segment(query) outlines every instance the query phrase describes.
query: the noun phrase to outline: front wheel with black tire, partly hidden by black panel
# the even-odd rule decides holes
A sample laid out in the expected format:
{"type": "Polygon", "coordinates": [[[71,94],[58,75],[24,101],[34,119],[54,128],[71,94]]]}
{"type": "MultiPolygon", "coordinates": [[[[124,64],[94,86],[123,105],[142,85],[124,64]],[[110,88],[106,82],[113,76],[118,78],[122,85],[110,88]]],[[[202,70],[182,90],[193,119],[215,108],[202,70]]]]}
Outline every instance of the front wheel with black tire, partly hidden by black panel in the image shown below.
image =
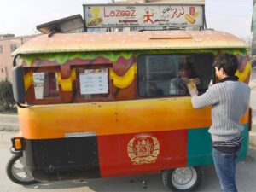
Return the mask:
{"type": "Polygon", "coordinates": [[[23,155],[15,154],[13,155],[6,166],[7,176],[10,180],[14,183],[22,184],[22,185],[29,185],[38,183],[38,181],[34,180],[32,177],[28,176],[24,171],[24,166],[22,164],[23,155]]]}

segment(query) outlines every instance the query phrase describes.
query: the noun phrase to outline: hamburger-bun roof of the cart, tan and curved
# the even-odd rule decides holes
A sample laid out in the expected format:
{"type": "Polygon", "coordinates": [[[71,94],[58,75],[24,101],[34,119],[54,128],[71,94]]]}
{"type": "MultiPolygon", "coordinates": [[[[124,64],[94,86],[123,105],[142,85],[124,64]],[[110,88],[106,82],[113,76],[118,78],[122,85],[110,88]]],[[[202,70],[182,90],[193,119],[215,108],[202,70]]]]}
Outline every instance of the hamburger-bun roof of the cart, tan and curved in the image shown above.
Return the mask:
{"type": "Polygon", "coordinates": [[[218,31],[56,33],[32,38],[16,54],[142,49],[247,48],[240,38],[218,31]]]}

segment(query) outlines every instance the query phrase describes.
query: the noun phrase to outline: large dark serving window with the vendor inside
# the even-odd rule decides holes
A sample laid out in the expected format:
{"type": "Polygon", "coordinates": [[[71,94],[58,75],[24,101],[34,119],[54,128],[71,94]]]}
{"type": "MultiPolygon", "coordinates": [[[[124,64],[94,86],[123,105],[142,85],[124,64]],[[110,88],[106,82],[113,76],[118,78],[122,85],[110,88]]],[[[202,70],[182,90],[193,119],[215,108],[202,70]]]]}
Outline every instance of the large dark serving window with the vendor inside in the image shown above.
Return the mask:
{"type": "Polygon", "coordinates": [[[140,55],[138,94],[143,97],[189,96],[189,79],[195,80],[202,94],[213,77],[212,62],[212,54],[140,55]]]}

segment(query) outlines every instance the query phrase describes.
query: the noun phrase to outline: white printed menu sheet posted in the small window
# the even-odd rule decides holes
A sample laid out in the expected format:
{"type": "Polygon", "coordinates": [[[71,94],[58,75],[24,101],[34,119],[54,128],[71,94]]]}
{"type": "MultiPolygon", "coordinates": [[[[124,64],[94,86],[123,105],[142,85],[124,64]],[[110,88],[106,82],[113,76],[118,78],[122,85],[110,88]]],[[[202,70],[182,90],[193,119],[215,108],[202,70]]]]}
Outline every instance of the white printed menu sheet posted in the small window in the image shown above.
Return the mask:
{"type": "Polygon", "coordinates": [[[82,95],[108,93],[108,69],[86,69],[79,79],[82,95]]]}

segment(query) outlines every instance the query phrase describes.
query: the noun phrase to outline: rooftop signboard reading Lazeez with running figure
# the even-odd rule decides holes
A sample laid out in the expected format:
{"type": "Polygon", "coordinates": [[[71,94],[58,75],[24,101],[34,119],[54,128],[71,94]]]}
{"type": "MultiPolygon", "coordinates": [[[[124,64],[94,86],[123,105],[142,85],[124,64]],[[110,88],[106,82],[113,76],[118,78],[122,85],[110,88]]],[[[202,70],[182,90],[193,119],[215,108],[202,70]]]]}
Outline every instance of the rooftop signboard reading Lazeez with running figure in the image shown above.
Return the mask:
{"type": "Polygon", "coordinates": [[[86,27],[203,26],[202,5],[84,5],[86,27]]]}

